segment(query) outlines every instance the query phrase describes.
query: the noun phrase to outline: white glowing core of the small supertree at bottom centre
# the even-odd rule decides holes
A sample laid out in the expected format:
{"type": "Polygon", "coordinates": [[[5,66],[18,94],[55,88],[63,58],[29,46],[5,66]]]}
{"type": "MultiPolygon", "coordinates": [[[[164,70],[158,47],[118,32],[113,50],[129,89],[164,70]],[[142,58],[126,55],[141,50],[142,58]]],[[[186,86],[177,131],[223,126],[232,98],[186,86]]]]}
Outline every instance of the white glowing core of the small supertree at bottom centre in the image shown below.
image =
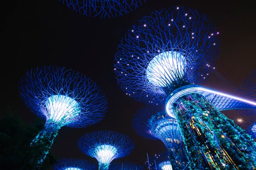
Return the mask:
{"type": "Polygon", "coordinates": [[[95,148],[94,152],[96,153],[95,158],[99,163],[109,165],[117,153],[117,148],[111,145],[100,145],[95,148]]]}

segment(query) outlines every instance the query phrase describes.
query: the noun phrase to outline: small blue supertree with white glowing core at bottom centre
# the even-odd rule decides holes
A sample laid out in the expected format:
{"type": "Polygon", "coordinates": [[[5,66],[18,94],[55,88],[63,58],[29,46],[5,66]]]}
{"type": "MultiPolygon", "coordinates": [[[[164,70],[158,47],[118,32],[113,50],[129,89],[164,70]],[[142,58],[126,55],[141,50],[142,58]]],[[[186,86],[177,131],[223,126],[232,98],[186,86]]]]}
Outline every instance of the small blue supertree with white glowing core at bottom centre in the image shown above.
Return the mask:
{"type": "Polygon", "coordinates": [[[99,162],[99,170],[108,170],[113,159],[128,155],[134,148],[126,135],[108,130],[89,132],[78,140],[79,150],[99,162]]]}

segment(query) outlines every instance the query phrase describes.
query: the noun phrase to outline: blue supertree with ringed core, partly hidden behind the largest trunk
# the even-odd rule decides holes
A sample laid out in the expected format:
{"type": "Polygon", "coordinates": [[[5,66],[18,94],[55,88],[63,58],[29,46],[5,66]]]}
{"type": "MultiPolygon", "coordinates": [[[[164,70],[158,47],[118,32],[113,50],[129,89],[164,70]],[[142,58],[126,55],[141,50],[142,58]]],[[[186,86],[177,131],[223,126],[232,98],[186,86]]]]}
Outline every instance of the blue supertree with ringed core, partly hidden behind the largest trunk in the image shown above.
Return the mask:
{"type": "Polygon", "coordinates": [[[161,110],[164,107],[146,105],[135,114],[132,128],[146,139],[160,139],[166,146],[173,169],[183,170],[188,160],[182,146],[180,129],[176,119],[161,110]]]}

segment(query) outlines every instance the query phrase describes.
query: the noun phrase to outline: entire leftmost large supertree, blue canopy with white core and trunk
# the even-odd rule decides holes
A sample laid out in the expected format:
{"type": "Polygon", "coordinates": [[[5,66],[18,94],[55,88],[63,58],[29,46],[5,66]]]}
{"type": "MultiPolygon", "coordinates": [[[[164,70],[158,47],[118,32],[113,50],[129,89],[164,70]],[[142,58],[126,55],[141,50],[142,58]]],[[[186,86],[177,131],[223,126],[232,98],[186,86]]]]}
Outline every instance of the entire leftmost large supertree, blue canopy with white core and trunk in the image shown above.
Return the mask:
{"type": "Polygon", "coordinates": [[[19,91],[27,107],[45,119],[44,129],[31,142],[37,150],[36,168],[40,168],[62,126],[90,126],[101,121],[107,110],[106,97],[95,82],[65,67],[44,66],[27,71],[19,91]]]}

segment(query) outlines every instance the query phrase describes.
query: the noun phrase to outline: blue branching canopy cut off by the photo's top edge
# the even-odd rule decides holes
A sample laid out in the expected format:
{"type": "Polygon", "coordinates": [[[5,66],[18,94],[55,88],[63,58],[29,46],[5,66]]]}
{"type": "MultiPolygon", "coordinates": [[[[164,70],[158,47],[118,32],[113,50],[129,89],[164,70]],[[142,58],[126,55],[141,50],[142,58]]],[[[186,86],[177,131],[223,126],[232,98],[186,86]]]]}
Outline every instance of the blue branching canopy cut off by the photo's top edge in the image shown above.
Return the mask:
{"type": "Polygon", "coordinates": [[[146,0],[59,0],[82,15],[114,18],[139,8],[146,0]]]}

